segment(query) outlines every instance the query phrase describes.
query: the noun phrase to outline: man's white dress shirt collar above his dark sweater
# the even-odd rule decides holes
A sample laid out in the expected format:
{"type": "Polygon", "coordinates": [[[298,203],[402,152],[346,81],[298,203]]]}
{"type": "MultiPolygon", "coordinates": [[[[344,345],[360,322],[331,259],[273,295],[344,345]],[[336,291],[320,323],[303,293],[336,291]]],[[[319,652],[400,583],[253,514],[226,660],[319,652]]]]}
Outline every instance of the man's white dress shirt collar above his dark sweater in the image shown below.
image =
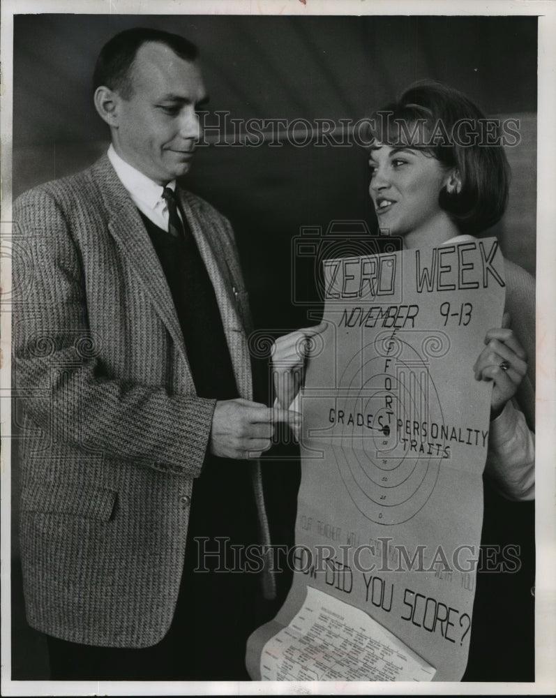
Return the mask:
{"type": "MultiPolygon", "coordinates": [[[[167,204],[162,198],[164,187],[161,184],[156,184],[156,181],[149,179],[145,174],[126,163],[114,150],[112,144],[108,149],[108,159],[116,170],[119,180],[129,192],[135,206],[149,218],[149,221],[158,225],[158,228],[167,231],[169,214],[167,204]]],[[[166,186],[175,191],[176,180],[168,182],[166,186]]],[[[179,210],[178,214],[181,218],[179,210]]]]}

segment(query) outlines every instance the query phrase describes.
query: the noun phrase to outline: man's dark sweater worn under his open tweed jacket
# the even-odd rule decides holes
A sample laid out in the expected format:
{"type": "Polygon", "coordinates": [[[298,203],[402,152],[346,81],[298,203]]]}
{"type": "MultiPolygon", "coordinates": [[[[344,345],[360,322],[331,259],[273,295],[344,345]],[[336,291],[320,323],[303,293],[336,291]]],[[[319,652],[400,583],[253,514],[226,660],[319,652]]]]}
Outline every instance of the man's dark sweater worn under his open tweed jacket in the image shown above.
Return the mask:
{"type": "MultiPolygon", "coordinates": [[[[187,228],[183,237],[173,237],[141,216],[172,294],[197,396],[217,400],[238,397],[216,295],[193,234],[187,228]]],[[[218,458],[207,451],[202,473],[193,484],[186,568],[203,546],[206,551],[218,548],[213,541],[216,536],[230,537],[239,544],[257,542],[258,519],[249,468],[247,461],[218,458]],[[200,544],[196,537],[211,540],[200,544]]],[[[215,558],[207,566],[217,562],[215,558]]]]}

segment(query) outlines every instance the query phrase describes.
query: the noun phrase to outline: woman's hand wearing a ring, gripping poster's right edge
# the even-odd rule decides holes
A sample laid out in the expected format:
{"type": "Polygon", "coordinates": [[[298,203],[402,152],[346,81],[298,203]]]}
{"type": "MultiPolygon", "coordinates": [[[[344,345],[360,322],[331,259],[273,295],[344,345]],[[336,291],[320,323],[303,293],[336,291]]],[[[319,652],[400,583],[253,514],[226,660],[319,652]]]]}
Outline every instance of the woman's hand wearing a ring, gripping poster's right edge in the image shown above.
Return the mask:
{"type": "Polygon", "coordinates": [[[490,419],[502,412],[527,373],[527,354],[509,325],[509,313],[504,313],[502,327],[489,329],[486,333],[486,347],[473,366],[476,380],[492,380],[494,383],[490,419]]]}

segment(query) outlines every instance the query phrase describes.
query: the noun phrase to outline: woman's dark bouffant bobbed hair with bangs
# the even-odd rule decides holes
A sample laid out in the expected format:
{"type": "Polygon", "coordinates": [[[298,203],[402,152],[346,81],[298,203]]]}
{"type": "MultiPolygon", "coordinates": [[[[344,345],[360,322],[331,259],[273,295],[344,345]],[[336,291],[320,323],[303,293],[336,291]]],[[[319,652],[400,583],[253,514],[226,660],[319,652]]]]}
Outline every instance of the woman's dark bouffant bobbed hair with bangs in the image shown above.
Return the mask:
{"type": "Polygon", "coordinates": [[[485,122],[485,115],[465,95],[432,80],[412,84],[397,102],[370,118],[372,137],[384,144],[394,144],[400,136],[408,144],[408,134],[416,133],[417,124],[423,127],[414,147],[460,174],[461,191],[449,192],[444,187],[439,205],[460,232],[471,234],[497,223],[508,201],[509,165],[504,147],[492,131],[485,133],[485,122]],[[405,126],[401,131],[400,123],[405,126]]]}

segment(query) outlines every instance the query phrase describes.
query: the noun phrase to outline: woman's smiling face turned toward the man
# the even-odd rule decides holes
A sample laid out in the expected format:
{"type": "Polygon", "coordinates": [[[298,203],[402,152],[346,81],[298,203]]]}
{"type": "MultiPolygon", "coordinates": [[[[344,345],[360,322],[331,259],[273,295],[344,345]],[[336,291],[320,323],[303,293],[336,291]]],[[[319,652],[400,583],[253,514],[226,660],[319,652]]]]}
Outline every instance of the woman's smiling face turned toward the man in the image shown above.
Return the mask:
{"type": "Polygon", "coordinates": [[[451,173],[436,158],[419,149],[377,144],[370,149],[369,165],[369,192],[380,228],[437,244],[453,237],[453,223],[438,204],[451,173]]]}

